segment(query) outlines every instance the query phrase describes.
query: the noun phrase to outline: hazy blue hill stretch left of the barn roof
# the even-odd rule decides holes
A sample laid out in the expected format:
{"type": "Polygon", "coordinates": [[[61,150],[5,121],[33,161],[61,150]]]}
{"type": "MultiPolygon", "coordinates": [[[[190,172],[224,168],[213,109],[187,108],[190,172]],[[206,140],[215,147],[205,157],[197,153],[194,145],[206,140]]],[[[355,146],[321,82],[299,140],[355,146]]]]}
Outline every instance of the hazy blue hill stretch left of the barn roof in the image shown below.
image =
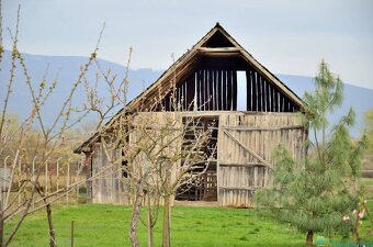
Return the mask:
{"type": "MultiPolygon", "coordinates": [[[[72,85],[77,81],[78,75],[80,72],[81,66],[87,64],[88,57],[75,57],[75,56],[42,56],[42,55],[30,55],[23,54],[25,58],[25,64],[27,66],[27,72],[32,77],[32,82],[37,87],[41,83],[46,69],[46,80],[50,82],[54,78],[58,78],[57,88],[55,89],[52,100],[46,102],[43,115],[47,123],[52,123],[54,116],[57,114],[57,109],[61,105],[63,100],[66,99],[72,85]]],[[[117,75],[116,81],[122,81],[125,76],[125,67],[118,64],[114,64],[108,60],[99,59],[100,67],[103,71],[111,69],[111,75],[117,75]]],[[[11,69],[11,53],[5,50],[3,63],[1,64],[0,81],[0,101],[3,105],[3,99],[5,93],[5,82],[8,82],[11,69]]],[[[27,90],[25,77],[21,70],[21,66],[18,66],[18,72],[15,75],[13,93],[11,94],[10,111],[19,116],[25,116],[30,112],[31,96],[30,90],[27,90]]],[[[99,71],[98,65],[93,64],[87,74],[87,79],[94,83],[95,75],[99,71]]],[[[129,69],[128,78],[128,100],[133,99],[139,94],[146,87],[154,82],[161,71],[155,71],[151,69],[129,69]]],[[[101,97],[109,97],[105,94],[108,92],[108,86],[103,81],[102,77],[98,83],[98,92],[101,97]]],[[[84,88],[81,85],[74,98],[75,105],[81,105],[86,99],[84,88]]],[[[94,116],[91,116],[94,117],[94,116]]]]}

